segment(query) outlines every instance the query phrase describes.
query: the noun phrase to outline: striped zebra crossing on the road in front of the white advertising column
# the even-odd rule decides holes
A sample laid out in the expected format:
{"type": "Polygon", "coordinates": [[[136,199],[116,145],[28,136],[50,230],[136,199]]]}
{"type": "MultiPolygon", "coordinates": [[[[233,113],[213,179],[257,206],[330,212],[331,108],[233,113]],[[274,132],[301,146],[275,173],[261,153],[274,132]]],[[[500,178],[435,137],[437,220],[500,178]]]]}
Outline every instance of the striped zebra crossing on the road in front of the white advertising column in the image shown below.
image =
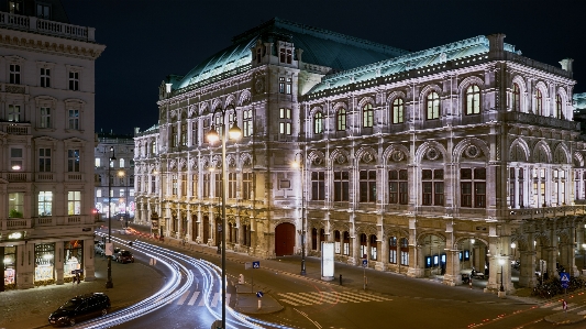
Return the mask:
{"type": "Polygon", "coordinates": [[[368,303],[392,300],[383,296],[361,293],[311,292],[311,293],[284,293],[277,294],[277,299],[291,306],[308,306],[323,304],[368,303]]]}

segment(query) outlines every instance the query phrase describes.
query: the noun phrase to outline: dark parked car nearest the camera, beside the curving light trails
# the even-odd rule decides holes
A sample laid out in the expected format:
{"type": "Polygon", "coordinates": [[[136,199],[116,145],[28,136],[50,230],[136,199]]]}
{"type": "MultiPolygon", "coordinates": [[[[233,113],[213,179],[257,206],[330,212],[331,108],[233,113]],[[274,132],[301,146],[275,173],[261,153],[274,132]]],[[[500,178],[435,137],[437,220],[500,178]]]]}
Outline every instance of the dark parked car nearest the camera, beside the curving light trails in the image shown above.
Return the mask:
{"type": "Polygon", "coordinates": [[[95,317],[103,316],[110,310],[110,298],[103,293],[75,296],[48,316],[53,327],[74,326],[95,317]]]}

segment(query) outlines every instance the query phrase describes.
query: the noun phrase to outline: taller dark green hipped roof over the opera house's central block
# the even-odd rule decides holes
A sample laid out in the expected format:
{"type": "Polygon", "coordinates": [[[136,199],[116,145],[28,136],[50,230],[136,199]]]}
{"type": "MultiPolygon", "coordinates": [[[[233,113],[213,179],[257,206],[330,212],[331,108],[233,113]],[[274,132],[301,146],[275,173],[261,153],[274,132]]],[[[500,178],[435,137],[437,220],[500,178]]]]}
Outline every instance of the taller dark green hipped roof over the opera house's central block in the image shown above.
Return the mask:
{"type": "MultiPolygon", "coordinates": [[[[220,79],[229,73],[248,69],[252,61],[251,48],[258,39],[273,43],[278,40],[291,42],[296,48],[303,50],[301,55],[303,63],[327,66],[334,70],[347,70],[409,53],[366,40],[275,18],[236,35],[232,40],[231,46],[200,63],[179,83],[173,84],[173,89],[189,87],[208,79],[220,79]]],[[[274,48],[273,52],[276,50],[274,48]]]]}

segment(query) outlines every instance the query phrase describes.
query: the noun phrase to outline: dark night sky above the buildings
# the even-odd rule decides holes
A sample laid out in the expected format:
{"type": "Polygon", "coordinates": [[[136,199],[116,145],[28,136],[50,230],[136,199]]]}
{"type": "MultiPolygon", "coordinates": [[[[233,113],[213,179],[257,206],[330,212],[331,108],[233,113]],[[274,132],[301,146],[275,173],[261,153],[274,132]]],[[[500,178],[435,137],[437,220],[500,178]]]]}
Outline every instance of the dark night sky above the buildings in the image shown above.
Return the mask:
{"type": "Polygon", "coordinates": [[[96,132],[157,123],[158,86],[186,75],[231,39],[274,17],[421,51],[505,33],[523,56],[561,67],[574,58],[586,92],[586,1],[62,0],[69,21],[96,28],[96,132]]]}

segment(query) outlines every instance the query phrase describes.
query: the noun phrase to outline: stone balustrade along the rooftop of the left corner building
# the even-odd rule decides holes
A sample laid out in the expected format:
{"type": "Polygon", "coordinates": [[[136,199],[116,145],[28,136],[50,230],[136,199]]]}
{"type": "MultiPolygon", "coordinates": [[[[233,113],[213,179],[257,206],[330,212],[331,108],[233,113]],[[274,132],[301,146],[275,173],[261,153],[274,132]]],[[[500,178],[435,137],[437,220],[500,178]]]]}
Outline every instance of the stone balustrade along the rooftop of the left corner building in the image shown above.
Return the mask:
{"type": "Polygon", "coordinates": [[[32,33],[96,42],[96,29],[0,12],[0,26],[32,33]]]}

